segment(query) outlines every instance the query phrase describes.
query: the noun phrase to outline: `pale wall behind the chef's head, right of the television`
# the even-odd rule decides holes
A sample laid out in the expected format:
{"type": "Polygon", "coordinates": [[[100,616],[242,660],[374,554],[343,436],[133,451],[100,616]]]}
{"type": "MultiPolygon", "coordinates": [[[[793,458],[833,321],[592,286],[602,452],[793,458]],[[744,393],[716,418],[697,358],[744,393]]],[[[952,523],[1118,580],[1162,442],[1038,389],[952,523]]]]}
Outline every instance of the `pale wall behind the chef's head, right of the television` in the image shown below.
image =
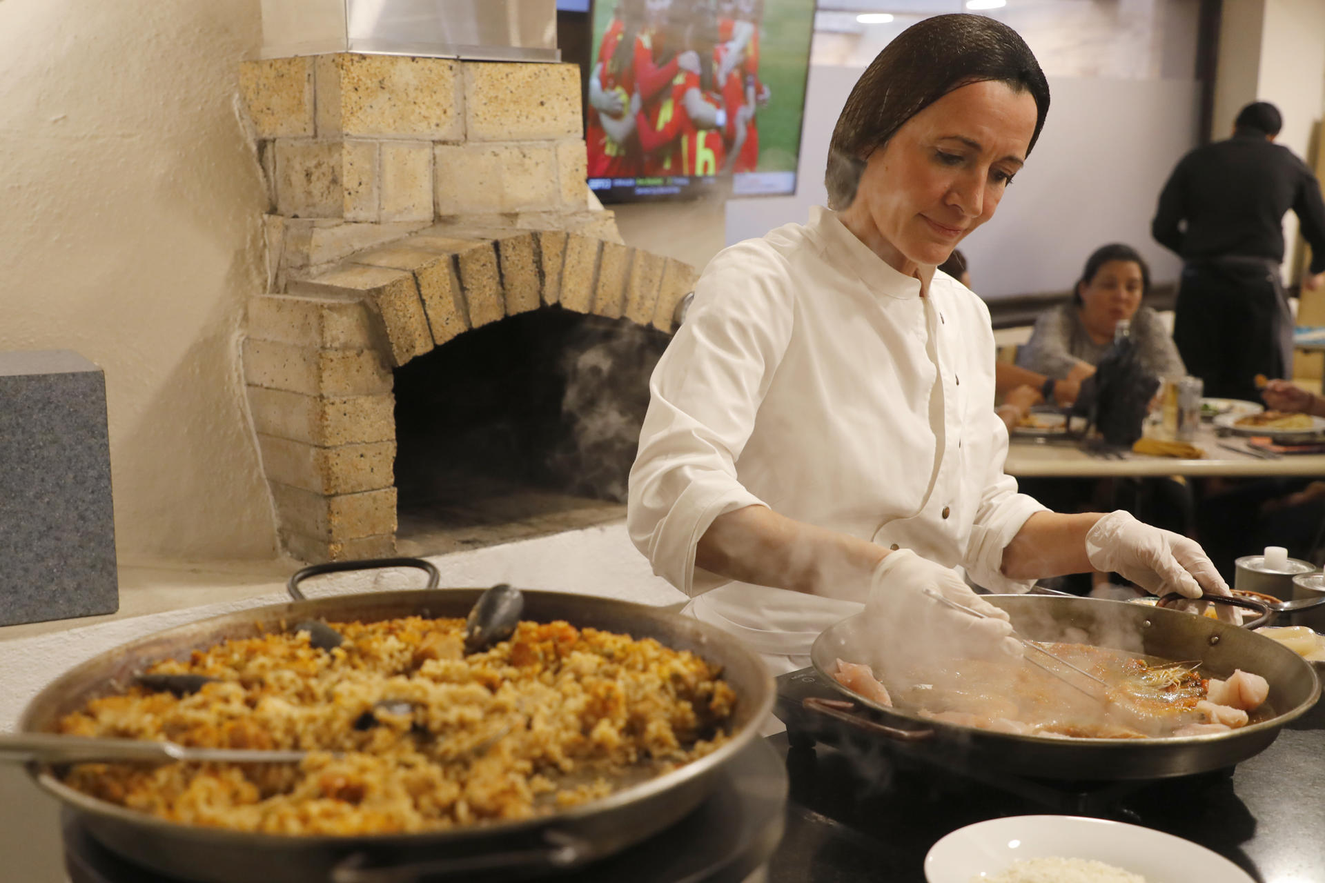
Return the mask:
{"type": "MultiPolygon", "coordinates": [[[[798,195],[730,201],[729,242],[803,222],[810,205],[827,200],[828,139],[861,70],[811,69],[798,195]]],[[[994,220],[961,245],[977,291],[1067,290],[1086,256],[1114,241],[1137,248],[1155,282],[1175,281],[1179,261],[1150,238],[1150,218],[1174,163],[1196,142],[1196,82],[1051,77],[1049,89],[1030,162],[994,220]]]]}

